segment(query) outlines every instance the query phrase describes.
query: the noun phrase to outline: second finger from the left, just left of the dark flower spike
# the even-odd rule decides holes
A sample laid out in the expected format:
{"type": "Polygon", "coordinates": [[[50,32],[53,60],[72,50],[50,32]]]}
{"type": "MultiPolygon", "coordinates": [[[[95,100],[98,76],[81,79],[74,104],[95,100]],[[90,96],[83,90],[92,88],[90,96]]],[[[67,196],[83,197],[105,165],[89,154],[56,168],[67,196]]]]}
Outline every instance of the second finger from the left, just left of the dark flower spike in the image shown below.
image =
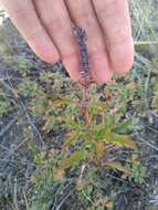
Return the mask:
{"type": "Polygon", "coordinates": [[[35,0],[34,3],[39,17],[55,43],[69,74],[73,81],[81,81],[76,40],[64,1],[35,0]]]}

